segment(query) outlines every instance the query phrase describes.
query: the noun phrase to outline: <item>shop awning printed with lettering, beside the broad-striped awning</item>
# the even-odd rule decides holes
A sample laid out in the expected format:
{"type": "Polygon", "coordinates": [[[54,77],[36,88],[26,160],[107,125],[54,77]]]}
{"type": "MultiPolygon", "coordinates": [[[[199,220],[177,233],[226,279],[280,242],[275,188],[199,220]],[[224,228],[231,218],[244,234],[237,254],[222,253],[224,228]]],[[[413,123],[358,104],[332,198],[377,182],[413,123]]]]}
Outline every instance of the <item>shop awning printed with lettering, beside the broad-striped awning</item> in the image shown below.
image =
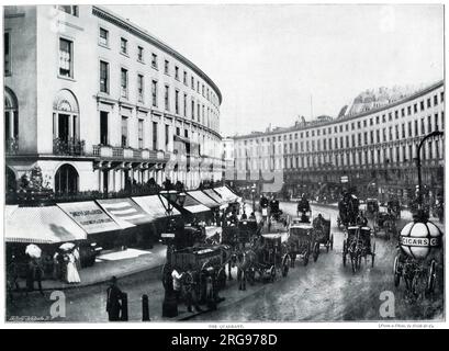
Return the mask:
{"type": "Polygon", "coordinates": [[[74,219],[87,234],[113,231],[122,229],[93,201],[60,203],[57,206],[74,219]]]}

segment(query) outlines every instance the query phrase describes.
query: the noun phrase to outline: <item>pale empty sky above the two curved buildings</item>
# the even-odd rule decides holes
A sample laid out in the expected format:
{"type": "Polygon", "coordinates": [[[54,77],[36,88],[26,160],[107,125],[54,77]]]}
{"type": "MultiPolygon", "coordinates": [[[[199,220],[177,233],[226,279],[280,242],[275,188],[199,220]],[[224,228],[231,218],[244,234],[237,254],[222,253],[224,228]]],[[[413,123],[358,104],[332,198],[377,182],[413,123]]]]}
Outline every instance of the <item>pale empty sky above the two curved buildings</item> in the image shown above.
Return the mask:
{"type": "Polygon", "coordinates": [[[108,5],[220,88],[221,134],[337,116],[367,89],[444,78],[438,4],[108,5]]]}

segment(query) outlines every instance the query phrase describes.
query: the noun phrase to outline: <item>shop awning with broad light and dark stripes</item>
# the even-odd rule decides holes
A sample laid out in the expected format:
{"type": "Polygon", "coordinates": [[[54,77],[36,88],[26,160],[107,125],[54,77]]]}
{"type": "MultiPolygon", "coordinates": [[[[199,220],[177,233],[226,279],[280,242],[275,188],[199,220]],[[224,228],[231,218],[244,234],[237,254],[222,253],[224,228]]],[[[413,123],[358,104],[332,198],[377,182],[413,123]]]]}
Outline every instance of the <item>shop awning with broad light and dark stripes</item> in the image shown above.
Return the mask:
{"type": "Polygon", "coordinates": [[[146,213],[132,199],[106,199],[97,200],[97,203],[114,219],[122,228],[133,227],[153,222],[153,217],[146,213]]]}

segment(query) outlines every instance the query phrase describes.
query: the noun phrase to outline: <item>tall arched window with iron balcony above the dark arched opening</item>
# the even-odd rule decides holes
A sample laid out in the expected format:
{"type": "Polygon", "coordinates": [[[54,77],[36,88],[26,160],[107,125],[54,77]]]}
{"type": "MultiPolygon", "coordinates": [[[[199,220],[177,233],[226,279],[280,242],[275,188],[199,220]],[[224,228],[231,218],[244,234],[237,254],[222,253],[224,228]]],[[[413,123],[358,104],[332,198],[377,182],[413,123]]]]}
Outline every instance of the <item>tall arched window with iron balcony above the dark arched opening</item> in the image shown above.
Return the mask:
{"type": "Polygon", "coordinates": [[[60,90],[53,102],[53,139],[55,154],[67,155],[79,144],[78,102],[67,89],[60,90]]]}

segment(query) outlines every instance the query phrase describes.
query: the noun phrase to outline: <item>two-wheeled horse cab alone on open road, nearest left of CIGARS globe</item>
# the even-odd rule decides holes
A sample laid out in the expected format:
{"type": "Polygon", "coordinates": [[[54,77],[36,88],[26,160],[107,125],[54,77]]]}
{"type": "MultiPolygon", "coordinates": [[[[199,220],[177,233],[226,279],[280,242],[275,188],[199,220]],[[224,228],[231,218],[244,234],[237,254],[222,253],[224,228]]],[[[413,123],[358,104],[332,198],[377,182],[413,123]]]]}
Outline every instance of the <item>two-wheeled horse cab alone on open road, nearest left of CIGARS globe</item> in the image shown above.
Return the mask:
{"type": "Polygon", "coordinates": [[[374,267],[375,241],[371,242],[371,228],[349,226],[343,241],[343,265],[346,267],[347,257],[351,261],[352,272],[361,267],[361,259],[371,256],[371,267],[374,267]]]}

